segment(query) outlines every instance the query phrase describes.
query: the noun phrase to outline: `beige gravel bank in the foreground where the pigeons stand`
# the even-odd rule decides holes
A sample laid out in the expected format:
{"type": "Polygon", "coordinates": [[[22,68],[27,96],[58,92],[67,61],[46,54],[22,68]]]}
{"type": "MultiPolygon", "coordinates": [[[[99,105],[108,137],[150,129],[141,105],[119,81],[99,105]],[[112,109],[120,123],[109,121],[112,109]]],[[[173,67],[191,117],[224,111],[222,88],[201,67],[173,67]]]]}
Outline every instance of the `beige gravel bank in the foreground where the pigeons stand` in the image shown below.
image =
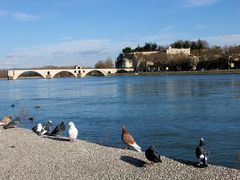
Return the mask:
{"type": "Polygon", "coordinates": [[[79,140],[50,139],[26,129],[0,128],[0,179],[240,179],[240,170],[162,157],[79,140]]]}

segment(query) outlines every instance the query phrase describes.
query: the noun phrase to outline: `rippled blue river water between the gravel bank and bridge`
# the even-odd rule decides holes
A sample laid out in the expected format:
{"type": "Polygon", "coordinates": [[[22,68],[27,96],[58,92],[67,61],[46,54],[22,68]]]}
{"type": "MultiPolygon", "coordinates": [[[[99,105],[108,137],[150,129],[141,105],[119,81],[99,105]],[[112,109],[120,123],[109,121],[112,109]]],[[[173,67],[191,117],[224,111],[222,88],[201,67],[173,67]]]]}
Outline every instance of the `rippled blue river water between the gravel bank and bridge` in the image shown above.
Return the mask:
{"type": "Polygon", "coordinates": [[[2,80],[0,94],[0,117],[21,116],[20,127],[73,121],[78,139],[124,147],[124,125],[143,150],[155,145],[164,156],[190,161],[203,137],[209,163],[239,166],[240,75],[2,80]]]}

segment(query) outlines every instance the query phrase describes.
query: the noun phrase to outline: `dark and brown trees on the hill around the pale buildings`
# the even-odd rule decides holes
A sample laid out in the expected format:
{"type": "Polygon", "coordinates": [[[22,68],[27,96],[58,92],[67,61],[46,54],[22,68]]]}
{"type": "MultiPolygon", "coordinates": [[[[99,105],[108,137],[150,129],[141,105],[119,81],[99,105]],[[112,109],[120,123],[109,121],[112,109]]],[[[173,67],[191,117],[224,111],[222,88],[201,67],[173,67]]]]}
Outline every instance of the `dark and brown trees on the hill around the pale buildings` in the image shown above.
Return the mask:
{"type": "Polygon", "coordinates": [[[136,48],[125,47],[117,57],[116,64],[121,64],[124,59],[136,59],[133,52],[158,51],[151,55],[138,54],[138,71],[159,70],[211,70],[240,68],[240,45],[234,46],[209,46],[205,40],[176,41],[169,46],[161,46],[156,43],[145,43],[144,46],[136,48]],[[185,54],[167,55],[166,50],[172,48],[190,48],[191,55],[185,54]],[[151,63],[149,63],[151,62],[151,63]]]}

